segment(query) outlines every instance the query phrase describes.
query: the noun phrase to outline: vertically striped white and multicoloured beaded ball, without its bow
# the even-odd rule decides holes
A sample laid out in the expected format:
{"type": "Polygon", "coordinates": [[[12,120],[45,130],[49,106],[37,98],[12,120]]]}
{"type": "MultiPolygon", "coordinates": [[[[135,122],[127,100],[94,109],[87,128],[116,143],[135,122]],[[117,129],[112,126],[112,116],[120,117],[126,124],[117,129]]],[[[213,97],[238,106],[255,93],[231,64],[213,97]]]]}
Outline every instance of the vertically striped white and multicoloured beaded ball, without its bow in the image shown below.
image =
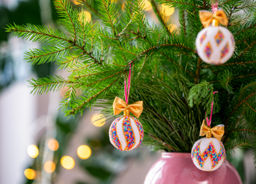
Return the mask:
{"type": "Polygon", "coordinates": [[[139,120],[132,116],[115,119],[109,129],[110,142],[121,151],[130,151],[141,145],[144,131],[139,120]]]}

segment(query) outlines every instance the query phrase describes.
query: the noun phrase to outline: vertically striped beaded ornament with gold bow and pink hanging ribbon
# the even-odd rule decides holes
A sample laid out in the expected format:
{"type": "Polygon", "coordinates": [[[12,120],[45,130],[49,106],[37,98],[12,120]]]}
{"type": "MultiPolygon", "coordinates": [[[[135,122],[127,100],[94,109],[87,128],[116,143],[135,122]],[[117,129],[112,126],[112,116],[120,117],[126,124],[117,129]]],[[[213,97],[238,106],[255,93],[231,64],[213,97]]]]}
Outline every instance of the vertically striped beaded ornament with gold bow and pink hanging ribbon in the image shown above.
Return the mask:
{"type": "Polygon", "coordinates": [[[124,81],[125,102],[115,97],[113,103],[114,114],[124,111],[124,115],[115,119],[109,129],[110,142],[121,151],[130,151],[141,145],[144,131],[139,120],[130,116],[130,112],[134,116],[139,117],[143,110],[143,101],[135,102],[128,105],[128,97],[131,81],[131,64],[128,78],[128,90],[126,90],[126,80],[124,81]]]}

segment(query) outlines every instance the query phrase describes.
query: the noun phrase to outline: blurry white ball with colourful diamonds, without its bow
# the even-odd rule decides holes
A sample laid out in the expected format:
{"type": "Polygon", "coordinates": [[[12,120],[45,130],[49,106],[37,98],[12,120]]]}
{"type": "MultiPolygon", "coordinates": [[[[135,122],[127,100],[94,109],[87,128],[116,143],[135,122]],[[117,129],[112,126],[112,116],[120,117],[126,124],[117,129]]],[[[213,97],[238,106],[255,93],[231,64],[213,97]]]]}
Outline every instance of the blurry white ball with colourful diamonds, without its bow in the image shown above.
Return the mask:
{"type": "Polygon", "coordinates": [[[209,26],[202,29],[195,40],[199,57],[213,65],[226,63],[235,50],[233,34],[222,26],[209,26]]]}

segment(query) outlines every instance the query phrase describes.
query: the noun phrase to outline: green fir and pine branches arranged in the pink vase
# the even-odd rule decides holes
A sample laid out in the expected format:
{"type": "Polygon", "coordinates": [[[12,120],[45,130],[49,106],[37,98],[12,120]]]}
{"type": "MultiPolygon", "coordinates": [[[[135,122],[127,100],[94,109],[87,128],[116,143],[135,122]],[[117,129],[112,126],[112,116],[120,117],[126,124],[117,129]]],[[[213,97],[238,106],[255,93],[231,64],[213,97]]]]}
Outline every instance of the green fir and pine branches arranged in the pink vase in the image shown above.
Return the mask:
{"type": "MultiPolygon", "coordinates": [[[[55,5],[62,29],[40,25],[8,25],[12,36],[39,42],[41,49],[26,52],[32,65],[55,62],[69,77],[32,78],[32,94],[68,90],[61,102],[66,116],[99,106],[113,115],[116,96],[124,99],[124,79],[132,66],[129,103],[144,101],[140,121],[143,143],[154,150],[191,152],[203,119],[211,113],[212,125],[225,125],[226,150],[251,148],[256,154],[256,19],[255,2],[220,0],[235,38],[235,51],[224,64],[210,65],[198,56],[195,39],[203,29],[199,11],[211,11],[207,0],[151,0],[160,22],[151,25],[144,0],[78,0],[83,9],[72,9],[67,0],[55,5]],[[171,25],[163,5],[179,11],[180,26],[171,25]],[[82,95],[76,96],[76,91],[82,95]]],[[[256,160],[256,157],[254,157],[256,160]]]]}

